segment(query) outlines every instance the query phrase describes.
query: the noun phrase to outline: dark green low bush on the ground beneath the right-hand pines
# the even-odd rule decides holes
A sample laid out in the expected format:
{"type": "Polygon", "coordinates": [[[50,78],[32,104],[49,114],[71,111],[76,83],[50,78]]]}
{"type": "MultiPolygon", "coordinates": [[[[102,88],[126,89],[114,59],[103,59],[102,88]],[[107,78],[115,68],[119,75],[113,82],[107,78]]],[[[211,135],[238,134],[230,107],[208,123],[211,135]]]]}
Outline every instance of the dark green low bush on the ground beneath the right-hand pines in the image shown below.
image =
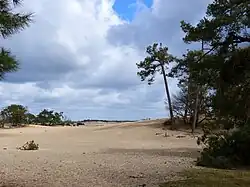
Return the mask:
{"type": "Polygon", "coordinates": [[[250,126],[234,131],[205,134],[198,139],[205,148],[197,165],[216,168],[250,166],[250,126]]]}

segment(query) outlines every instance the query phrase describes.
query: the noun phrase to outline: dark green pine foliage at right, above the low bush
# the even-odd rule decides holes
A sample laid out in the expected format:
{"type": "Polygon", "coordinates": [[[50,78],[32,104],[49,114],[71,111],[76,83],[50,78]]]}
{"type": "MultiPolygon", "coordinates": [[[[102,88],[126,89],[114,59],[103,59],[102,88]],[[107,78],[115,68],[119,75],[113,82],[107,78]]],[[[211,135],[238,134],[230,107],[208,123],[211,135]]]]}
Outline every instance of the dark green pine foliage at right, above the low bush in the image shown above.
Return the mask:
{"type": "Polygon", "coordinates": [[[203,41],[210,50],[196,59],[188,58],[195,54],[189,52],[171,72],[188,74],[195,84],[206,85],[210,109],[217,122],[227,127],[244,125],[250,117],[249,9],[248,0],[214,0],[197,25],[182,21],[184,41],[203,41]],[[238,47],[241,43],[245,47],[238,47]]]}

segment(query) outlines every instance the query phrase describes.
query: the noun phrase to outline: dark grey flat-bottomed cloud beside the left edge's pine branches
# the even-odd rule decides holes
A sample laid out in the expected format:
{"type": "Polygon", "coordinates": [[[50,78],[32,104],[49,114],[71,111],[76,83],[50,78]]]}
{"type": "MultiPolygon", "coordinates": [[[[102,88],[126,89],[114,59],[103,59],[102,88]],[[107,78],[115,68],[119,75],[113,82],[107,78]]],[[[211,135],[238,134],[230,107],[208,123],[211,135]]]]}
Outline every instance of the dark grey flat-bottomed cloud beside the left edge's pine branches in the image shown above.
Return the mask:
{"type": "Polygon", "coordinates": [[[54,49],[58,50],[58,55],[48,51],[46,48],[37,49],[29,56],[16,53],[21,62],[21,69],[17,73],[8,75],[6,81],[36,82],[58,80],[68,72],[77,69],[71,63],[74,60],[72,54],[67,53],[66,49],[61,50],[60,46],[55,45],[54,47],[54,49]]]}

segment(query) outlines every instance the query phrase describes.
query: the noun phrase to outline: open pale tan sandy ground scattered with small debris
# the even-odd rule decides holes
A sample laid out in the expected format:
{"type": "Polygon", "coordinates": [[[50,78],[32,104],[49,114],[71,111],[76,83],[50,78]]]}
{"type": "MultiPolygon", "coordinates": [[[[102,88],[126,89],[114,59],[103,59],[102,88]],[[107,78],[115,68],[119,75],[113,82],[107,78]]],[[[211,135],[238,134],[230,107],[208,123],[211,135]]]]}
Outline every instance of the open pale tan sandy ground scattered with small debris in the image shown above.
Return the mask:
{"type": "Polygon", "coordinates": [[[158,186],[197,156],[194,138],[164,132],[150,121],[0,129],[0,186],[158,186]],[[29,140],[40,149],[16,149],[29,140]]]}

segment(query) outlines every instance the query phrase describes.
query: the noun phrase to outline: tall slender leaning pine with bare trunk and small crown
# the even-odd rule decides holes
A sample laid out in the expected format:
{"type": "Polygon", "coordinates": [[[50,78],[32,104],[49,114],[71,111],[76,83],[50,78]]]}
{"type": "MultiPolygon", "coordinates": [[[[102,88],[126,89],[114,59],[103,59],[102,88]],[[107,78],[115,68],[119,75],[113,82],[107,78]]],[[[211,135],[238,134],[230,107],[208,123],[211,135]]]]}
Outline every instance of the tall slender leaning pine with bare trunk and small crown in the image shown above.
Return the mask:
{"type": "Polygon", "coordinates": [[[142,81],[145,81],[147,79],[148,84],[151,85],[155,80],[155,74],[157,72],[162,74],[167,94],[169,114],[173,125],[174,114],[166,77],[166,69],[167,65],[174,61],[174,58],[168,53],[168,48],[163,47],[161,43],[160,45],[154,43],[152,46],[148,46],[146,52],[148,53],[148,56],[143,61],[136,64],[138,69],[140,70],[137,75],[140,76],[142,81]]]}

